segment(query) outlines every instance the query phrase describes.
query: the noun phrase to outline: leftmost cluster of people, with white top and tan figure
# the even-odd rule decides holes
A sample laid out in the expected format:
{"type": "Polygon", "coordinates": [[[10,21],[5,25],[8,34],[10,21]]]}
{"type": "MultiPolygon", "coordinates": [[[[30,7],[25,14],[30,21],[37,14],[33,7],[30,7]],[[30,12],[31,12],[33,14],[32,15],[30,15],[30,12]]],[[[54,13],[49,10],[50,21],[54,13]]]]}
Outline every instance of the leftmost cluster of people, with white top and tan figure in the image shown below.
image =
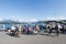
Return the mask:
{"type": "Polygon", "coordinates": [[[8,30],[8,32],[10,33],[10,35],[12,36],[20,36],[21,34],[21,30],[22,30],[22,26],[12,26],[11,29],[8,30]]]}

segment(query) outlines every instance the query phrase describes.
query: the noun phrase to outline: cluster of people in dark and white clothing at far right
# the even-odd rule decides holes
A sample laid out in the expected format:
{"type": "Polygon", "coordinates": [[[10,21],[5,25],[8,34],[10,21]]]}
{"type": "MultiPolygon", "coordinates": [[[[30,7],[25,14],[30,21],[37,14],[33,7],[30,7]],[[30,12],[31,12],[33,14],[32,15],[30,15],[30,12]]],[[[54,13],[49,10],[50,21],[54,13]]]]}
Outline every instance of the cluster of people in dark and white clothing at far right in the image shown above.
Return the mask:
{"type": "Polygon", "coordinates": [[[62,26],[59,25],[59,23],[48,23],[47,24],[47,30],[48,30],[48,34],[51,34],[53,32],[53,30],[55,30],[56,35],[59,34],[59,30],[62,29],[62,26]]]}

